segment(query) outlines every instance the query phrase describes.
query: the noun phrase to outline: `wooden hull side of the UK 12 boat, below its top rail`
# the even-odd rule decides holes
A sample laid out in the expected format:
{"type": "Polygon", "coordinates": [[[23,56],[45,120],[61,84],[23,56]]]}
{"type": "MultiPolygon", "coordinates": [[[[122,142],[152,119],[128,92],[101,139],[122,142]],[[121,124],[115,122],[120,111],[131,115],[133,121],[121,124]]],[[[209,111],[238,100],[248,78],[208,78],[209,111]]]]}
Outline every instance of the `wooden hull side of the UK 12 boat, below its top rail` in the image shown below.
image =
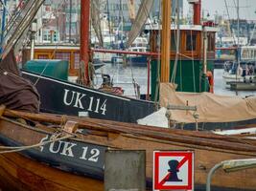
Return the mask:
{"type": "MultiPolygon", "coordinates": [[[[166,138],[172,139],[165,131],[163,133],[167,135],[166,138]]],[[[51,134],[50,129],[47,132],[37,128],[28,128],[28,126],[22,126],[6,119],[0,120],[0,141],[6,146],[32,145],[45,140],[51,134]]],[[[115,148],[146,150],[146,174],[149,180],[148,186],[151,187],[152,152],[154,150],[194,150],[196,189],[205,190],[206,176],[216,163],[226,159],[256,157],[256,150],[248,152],[237,151],[235,148],[233,150],[221,149],[221,147],[191,144],[185,139],[184,141],[178,141],[175,137],[174,140],[171,139],[103,131],[81,134],[76,139],[71,138],[44,145],[43,149],[41,147],[22,153],[0,155],[0,176],[2,178],[0,183],[3,183],[5,187],[12,185],[19,190],[104,190],[104,150],[115,148]],[[96,163],[88,162],[92,156],[89,158],[87,156],[85,159],[83,155],[85,147],[90,150],[99,149],[99,160],[96,163]],[[39,183],[41,187],[36,186],[39,183]]],[[[256,182],[253,177],[255,175],[255,169],[230,174],[218,170],[212,180],[215,188],[213,190],[254,190],[256,182]]]]}

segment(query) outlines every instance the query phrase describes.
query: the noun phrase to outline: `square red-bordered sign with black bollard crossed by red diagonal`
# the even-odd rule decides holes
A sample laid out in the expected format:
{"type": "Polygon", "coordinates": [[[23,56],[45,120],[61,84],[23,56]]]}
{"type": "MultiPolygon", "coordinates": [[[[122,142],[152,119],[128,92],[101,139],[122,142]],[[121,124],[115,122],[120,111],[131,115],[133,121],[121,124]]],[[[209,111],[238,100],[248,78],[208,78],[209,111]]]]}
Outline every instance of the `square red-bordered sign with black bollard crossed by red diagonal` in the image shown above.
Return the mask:
{"type": "Polygon", "coordinates": [[[171,189],[194,189],[194,152],[153,152],[153,190],[171,189]]]}

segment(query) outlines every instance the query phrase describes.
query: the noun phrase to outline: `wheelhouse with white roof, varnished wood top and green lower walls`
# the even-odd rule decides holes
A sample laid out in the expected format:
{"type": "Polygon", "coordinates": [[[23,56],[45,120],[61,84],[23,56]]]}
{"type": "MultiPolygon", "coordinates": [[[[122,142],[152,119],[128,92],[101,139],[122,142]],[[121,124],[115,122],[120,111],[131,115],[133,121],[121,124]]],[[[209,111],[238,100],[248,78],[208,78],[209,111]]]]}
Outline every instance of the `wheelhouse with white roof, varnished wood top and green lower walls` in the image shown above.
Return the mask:
{"type": "MultiPolygon", "coordinates": [[[[146,26],[146,32],[150,32],[150,49],[159,56],[151,57],[151,95],[155,95],[156,86],[159,83],[160,67],[160,38],[161,26],[146,26]]],[[[170,49],[170,80],[175,74],[177,91],[182,92],[209,92],[209,78],[213,76],[215,60],[215,39],[218,29],[211,26],[180,25],[179,27],[179,53],[177,66],[175,67],[177,29],[171,25],[171,49],[170,49]],[[204,67],[205,66],[205,67],[204,67]],[[174,67],[176,68],[174,73],[174,67]]]]}

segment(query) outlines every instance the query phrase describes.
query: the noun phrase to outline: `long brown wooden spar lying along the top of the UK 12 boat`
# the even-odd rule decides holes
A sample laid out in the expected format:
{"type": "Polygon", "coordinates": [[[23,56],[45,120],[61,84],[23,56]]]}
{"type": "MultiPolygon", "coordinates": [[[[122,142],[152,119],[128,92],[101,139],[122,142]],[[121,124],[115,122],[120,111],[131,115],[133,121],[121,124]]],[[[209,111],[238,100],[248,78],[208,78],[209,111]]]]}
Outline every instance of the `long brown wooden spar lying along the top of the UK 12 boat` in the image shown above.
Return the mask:
{"type": "MultiPolygon", "coordinates": [[[[16,112],[11,110],[6,110],[4,113],[5,116],[9,117],[24,117],[30,118],[31,120],[37,121],[47,121],[52,123],[64,124],[67,120],[76,120],[81,129],[89,129],[102,131],[107,133],[114,134],[127,134],[127,135],[136,135],[140,138],[155,138],[159,140],[167,140],[167,141],[176,141],[183,144],[196,144],[198,146],[206,146],[212,147],[216,149],[225,149],[230,151],[240,151],[240,152],[256,152],[256,145],[251,143],[251,145],[244,144],[243,138],[236,137],[224,137],[212,134],[213,139],[210,134],[204,135],[204,133],[194,132],[195,134],[201,134],[204,138],[197,138],[190,136],[190,132],[187,135],[185,133],[182,135],[175,134],[175,130],[165,130],[156,127],[148,127],[136,124],[128,124],[122,122],[112,122],[107,120],[93,119],[93,118],[85,118],[80,119],[78,117],[61,117],[61,116],[52,116],[52,115],[42,115],[42,114],[30,114],[24,112],[16,112]],[[230,141],[232,140],[232,141],[230,141]],[[227,144],[228,142],[228,144],[227,144]]],[[[177,131],[178,132],[178,131],[177,131]]],[[[184,131],[183,131],[184,132],[184,131]]],[[[192,133],[191,133],[192,134],[192,133]]]]}

